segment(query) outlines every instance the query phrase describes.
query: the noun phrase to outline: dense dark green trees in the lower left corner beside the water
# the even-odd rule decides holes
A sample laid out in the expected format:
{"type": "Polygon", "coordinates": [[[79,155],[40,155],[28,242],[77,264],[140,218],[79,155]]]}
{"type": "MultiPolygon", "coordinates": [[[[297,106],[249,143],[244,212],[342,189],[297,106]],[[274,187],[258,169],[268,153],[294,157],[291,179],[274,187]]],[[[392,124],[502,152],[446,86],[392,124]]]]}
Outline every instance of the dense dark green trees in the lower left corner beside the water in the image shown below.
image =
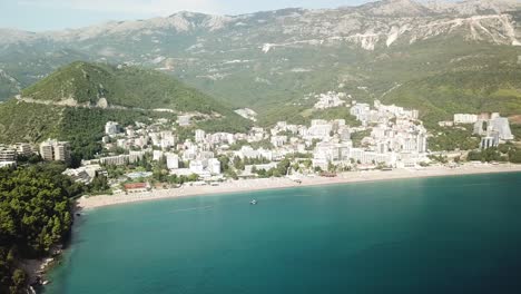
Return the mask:
{"type": "Polygon", "coordinates": [[[0,293],[22,293],[20,261],[49,255],[72,225],[71,198],[86,187],[60,163],[0,169],[0,293]]]}

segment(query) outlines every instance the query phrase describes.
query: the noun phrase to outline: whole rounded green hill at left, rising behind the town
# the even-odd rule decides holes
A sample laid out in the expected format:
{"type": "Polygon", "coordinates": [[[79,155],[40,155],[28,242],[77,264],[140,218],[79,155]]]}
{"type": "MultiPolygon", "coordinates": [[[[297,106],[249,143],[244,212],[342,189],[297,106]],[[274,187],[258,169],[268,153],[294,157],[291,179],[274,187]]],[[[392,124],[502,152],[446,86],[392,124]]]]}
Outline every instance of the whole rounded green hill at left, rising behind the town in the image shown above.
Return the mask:
{"type": "Polygon", "coordinates": [[[191,115],[194,128],[246,131],[250,122],[214,98],[156,70],[73,62],[0,104],[0,143],[69,140],[75,158],[91,158],[108,121],[191,115]]]}

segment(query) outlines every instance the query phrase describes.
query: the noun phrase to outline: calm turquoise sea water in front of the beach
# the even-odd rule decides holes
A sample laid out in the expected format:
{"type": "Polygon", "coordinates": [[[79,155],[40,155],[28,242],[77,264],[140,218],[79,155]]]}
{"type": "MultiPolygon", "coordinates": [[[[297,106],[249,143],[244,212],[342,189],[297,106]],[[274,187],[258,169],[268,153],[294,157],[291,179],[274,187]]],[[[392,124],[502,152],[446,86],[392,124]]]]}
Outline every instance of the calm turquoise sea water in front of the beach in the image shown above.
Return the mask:
{"type": "Polygon", "coordinates": [[[101,208],[51,278],[51,294],[521,293],[521,174],[101,208]]]}

